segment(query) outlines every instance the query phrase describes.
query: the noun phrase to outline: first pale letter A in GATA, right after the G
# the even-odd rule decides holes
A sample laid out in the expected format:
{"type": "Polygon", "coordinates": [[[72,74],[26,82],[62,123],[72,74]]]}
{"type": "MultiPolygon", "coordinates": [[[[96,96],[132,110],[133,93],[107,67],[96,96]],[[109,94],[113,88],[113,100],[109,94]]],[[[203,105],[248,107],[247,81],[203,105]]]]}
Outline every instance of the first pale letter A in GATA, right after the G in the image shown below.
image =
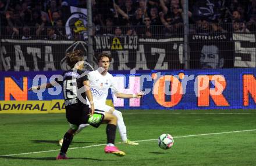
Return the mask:
{"type": "Polygon", "coordinates": [[[29,71],[29,67],[27,67],[20,45],[15,45],[14,48],[15,48],[15,62],[16,62],[16,65],[14,66],[14,70],[20,71],[20,67],[23,67],[24,71],[29,71]]]}

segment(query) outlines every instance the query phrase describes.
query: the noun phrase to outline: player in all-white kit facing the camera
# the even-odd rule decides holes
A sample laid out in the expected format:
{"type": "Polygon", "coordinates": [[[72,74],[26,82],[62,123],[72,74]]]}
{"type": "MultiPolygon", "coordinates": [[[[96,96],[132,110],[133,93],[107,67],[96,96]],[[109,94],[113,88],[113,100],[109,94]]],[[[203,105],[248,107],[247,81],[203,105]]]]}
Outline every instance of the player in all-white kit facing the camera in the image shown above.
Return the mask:
{"type": "MultiPolygon", "coordinates": [[[[104,112],[112,113],[118,118],[118,130],[122,143],[128,145],[138,145],[137,142],[130,141],[127,139],[126,126],[123,121],[122,112],[112,108],[111,106],[106,105],[106,97],[108,97],[108,89],[111,88],[113,94],[117,98],[141,98],[143,93],[136,94],[125,94],[120,93],[117,88],[117,84],[113,76],[108,72],[110,62],[112,60],[111,56],[106,53],[99,54],[98,58],[99,68],[96,71],[88,73],[88,80],[90,82],[91,93],[93,94],[94,108],[102,110],[104,112]]],[[[90,105],[90,102],[87,103],[90,105]]],[[[89,126],[89,124],[81,124],[79,129],[76,131],[76,134],[79,133],[83,128],[89,126]]],[[[59,141],[59,144],[62,145],[63,139],[59,141]]]]}

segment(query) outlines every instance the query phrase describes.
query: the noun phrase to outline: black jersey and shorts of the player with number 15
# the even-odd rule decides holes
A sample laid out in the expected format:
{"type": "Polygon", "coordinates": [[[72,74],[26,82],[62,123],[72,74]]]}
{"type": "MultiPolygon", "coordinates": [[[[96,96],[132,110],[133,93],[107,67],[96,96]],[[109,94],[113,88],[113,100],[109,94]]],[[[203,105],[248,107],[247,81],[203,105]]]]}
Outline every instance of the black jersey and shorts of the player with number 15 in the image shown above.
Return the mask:
{"type": "Polygon", "coordinates": [[[86,80],[88,80],[87,75],[79,69],[71,69],[63,73],[62,90],[69,123],[79,125],[88,121],[90,109],[86,105],[86,93],[82,90],[83,82],[86,80]]]}

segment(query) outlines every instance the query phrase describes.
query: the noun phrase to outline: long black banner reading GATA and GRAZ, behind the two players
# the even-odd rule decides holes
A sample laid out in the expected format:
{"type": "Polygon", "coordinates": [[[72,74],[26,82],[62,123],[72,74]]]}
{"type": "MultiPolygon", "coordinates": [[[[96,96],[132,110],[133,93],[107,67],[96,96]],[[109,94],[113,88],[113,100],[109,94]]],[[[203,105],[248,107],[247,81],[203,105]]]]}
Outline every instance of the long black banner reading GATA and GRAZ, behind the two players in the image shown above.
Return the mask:
{"type": "MultiPolygon", "coordinates": [[[[143,39],[138,36],[95,36],[94,54],[112,54],[111,70],[182,69],[183,38],[143,39]]],[[[87,43],[71,40],[1,39],[0,57],[3,71],[67,70],[65,53],[82,49],[87,43]]],[[[96,64],[96,58],[94,57],[96,64]]],[[[95,67],[95,65],[93,65],[95,67]]]]}

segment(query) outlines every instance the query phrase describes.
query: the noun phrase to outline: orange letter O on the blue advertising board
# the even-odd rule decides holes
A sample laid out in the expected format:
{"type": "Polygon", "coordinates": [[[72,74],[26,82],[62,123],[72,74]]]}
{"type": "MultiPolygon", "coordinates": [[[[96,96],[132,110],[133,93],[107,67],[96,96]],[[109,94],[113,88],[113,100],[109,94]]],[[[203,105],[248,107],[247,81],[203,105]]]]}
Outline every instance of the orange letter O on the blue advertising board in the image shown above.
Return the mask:
{"type": "Polygon", "coordinates": [[[179,104],[180,100],[182,99],[182,83],[180,83],[179,79],[173,77],[172,75],[163,76],[155,83],[153,87],[153,94],[155,101],[157,101],[159,105],[165,107],[175,106],[179,104]],[[172,90],[176,91],[171,95],[170,101],[165,101],[165,81],[169,81],[172,90]]]}

